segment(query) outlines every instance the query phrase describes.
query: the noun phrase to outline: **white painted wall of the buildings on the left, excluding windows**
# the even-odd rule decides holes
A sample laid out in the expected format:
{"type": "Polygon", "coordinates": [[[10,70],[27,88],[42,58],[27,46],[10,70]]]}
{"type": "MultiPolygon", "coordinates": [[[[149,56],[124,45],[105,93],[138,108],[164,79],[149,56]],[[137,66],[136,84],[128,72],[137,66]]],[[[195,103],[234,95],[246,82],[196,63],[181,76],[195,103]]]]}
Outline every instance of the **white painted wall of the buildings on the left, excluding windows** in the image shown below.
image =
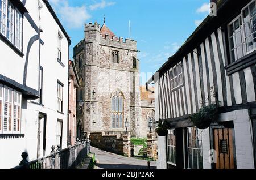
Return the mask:
{"type": "MultiPolygon", "coordinates": [[[[41,1],[42,2],[42,1],[41,1]]],[[[67,147],[67,112],[68,112],[68,40],[61,32],[59,25],[53,19],[47,7],[42,9],[42,21],[39,23],[38,1],[27,0],[26,8],[36,25],[41,24],[43,32],[41,38],[44,45],[41,46],[41,66],[43,66],[43,104],[44,106],[32,104],[30,100],[22,98],[21,134],[23,138],[0,139],[0,169],[13,168],[22,160],[22,152],[28,152],[28,160],[35,160],[37,156],[37,132],[38,115],[42,112],[47,115],[46,128],[46,155],[51,152],[51,146],[57,145],[56,130],[57,119],[63,120],[63,148],[67,147]],[[61,33],[62,62],[64,67],[57,62],[57,35],[61,33]],[[57,112],[57,80],[64,84],[63,92],[63,114],[57,112]]],[[[23,84],[23,70],[26,61],[28,41],[36,35],[28,20],[23,18],[23,53],[24,57],[16,54],[13,49],[0,40],[1,65],[0,74],[7,76],[16,82],[23,84]]],[[[27,86],[38,90],[39,74],[39,41],[34,42],[28,58],[27,86]]],[[[43,125],[43,124],[42,124],[43,125]]],[[[42,131],[43,136],[43,131],[42,131]]],[[[41,141],[42,145],[42,141],[41,141]]],[[[42,154],[42,150],[41,150],[42,154]]]]}

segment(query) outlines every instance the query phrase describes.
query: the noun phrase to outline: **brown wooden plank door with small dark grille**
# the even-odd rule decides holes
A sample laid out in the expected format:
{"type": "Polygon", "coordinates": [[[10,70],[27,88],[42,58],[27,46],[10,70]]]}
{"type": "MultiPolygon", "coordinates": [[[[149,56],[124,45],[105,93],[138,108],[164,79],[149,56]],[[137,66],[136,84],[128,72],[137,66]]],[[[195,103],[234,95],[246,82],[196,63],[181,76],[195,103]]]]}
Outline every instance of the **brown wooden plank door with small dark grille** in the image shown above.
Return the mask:
{"type": "Polygon", "coordinates": [[[233,129],[214,129],[213,137],[217,153],[216,169],[234,169],[233,129]]]}

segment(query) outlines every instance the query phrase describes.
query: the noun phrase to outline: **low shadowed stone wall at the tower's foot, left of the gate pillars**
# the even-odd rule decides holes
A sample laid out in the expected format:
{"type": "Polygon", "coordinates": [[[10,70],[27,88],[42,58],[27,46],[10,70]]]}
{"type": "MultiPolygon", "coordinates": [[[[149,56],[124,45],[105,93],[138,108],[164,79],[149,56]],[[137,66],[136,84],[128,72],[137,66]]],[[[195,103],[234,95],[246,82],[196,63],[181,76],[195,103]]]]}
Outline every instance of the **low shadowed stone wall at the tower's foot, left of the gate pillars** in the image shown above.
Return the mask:
{"type": "Polygon", "coordinates": [[[123,155],[123,139],[117,139],[117,135],[102,135],[101,132],[90,133],[91,144],[94,147],[108,152],[123,155]]]}

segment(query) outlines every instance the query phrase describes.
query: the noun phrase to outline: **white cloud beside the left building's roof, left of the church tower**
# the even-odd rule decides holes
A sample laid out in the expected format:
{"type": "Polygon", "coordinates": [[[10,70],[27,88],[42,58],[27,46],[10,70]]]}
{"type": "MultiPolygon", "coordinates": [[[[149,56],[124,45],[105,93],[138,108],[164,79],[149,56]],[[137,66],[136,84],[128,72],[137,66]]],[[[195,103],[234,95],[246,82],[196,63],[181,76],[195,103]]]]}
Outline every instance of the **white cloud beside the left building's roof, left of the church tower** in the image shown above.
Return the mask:
{"type": "Polygon", "coordinates": [[[70,6],[67,0],[49,0],[68,28],[80,28],[91,16],[85,5],[70,6]]]}

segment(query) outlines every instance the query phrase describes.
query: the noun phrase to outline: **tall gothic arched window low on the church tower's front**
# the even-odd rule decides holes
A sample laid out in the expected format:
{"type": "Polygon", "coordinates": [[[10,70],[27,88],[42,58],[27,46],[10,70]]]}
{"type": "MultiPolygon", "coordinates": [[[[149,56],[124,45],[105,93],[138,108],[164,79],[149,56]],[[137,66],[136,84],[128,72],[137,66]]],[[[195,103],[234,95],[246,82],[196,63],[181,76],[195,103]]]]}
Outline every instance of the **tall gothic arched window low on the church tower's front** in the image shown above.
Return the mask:
{"type": "Polygon", "coordinates": [[[120,91],[112,95],[112,128],[123,128],[123,99],[120,91]]]}

